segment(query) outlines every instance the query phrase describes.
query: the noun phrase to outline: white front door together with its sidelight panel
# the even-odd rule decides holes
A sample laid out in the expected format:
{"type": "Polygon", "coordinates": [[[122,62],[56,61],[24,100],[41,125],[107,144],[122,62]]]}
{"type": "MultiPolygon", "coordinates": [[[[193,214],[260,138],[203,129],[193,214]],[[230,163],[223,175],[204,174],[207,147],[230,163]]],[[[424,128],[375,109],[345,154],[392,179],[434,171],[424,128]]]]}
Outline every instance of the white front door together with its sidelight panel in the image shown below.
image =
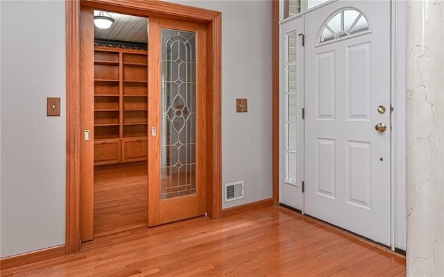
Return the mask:
{"type": "Polygon", "coordinates": [[[332,2],[282,24],[280,143],[281,203],[387,246],[389,7],[332,2]]]}

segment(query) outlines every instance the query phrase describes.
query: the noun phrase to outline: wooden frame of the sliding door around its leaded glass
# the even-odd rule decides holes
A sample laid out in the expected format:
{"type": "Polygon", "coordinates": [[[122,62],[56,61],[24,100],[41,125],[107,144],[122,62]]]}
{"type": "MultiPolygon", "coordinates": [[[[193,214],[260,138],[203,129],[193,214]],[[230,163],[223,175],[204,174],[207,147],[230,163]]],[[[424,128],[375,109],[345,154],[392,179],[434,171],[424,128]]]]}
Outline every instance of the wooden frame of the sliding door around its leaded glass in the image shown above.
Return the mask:
{"type": "Polygon", "coordinates": [[[206,87],[206,31],[201,24],[178,22],[170,19],[149,20],[148,40],[148,126],[157,128],[157,135],[148,135],[148,226],[178,221],[190,217],[203,215],[205,205],[205,180],[206,180],[206,112],[205,92],[206,87]],[[196,33],[196,194],[180,196],[173,199],[161,200],[161,56],[162,37],[161,29],[169,28],[180,31],[196,33]]]}

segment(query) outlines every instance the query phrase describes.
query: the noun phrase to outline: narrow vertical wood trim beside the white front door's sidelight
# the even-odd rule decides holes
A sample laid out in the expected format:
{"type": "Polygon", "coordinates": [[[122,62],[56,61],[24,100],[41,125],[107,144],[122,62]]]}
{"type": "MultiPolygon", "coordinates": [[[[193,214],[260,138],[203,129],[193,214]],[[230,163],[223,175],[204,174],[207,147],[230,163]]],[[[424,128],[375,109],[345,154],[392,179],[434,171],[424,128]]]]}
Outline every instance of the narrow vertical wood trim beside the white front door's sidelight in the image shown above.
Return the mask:
{"type": "Polygon", "coordinates": [[[273,205],[279,205],[279,1],[273,0],[273,205]]]}

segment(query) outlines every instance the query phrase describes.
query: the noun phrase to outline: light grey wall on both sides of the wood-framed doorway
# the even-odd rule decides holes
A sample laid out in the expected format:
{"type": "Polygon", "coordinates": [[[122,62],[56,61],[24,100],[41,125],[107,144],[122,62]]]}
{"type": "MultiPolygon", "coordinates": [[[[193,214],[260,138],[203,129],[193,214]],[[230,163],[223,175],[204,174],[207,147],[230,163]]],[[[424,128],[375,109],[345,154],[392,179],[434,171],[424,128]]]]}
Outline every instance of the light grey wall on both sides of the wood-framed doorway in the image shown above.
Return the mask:
{"type": "MultiPolygon", "coordinates": [[[[222,182],[244,180],[246,196],[223,208],[271,198],[271,1],[182,3],[222,12],[222,182]]],[[[65,2],[0,5],[3,258],[65,243],[65,2]],[[46,96],[62,97],[61,117],[46,96]]]]}

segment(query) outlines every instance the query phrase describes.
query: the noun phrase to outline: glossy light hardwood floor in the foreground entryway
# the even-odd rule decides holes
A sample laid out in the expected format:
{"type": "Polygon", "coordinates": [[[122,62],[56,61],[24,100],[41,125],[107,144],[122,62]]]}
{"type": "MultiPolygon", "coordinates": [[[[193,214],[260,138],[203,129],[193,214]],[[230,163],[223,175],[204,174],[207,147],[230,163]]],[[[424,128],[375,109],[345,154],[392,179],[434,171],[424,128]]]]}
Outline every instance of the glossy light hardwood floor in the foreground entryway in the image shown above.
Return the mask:
{"type": "Polygon", "coordinates": [[[98,237],[11,276],[404,276],[405,259],[285,208],[98,237]]]}

